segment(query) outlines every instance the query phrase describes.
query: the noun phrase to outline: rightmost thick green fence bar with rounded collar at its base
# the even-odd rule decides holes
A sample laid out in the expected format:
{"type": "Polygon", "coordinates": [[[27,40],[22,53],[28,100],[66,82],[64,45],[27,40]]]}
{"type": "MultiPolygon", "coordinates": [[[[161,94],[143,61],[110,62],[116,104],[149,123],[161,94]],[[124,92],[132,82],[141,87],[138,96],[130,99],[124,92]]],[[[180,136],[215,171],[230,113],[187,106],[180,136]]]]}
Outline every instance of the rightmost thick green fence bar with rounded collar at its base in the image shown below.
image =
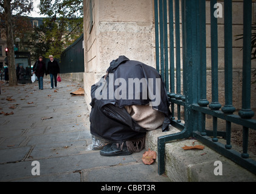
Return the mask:
{"type": "Polygon", "coordinates": [[[243,1],[243,89],[242,109],[239,116],[249,119],[254,116],[251,110],[251,36],[252,36],[252,0],[243,1]]]}

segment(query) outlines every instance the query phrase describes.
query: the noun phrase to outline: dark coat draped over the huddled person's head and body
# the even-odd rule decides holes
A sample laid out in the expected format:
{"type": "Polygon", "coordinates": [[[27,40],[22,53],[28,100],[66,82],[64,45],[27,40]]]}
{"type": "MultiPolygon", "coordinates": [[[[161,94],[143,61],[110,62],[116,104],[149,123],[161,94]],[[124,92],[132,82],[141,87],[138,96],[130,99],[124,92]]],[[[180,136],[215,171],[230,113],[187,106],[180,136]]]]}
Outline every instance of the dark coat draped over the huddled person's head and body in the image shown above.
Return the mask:
{"type": "MultiPolygon", "coordinates": [[[[156,78],[161,79],[161,75],[148,65],[143,64],[139,61],[130,61],[130,59],[125,56],[119,56],[118,59],[113,60],[110,64],[108,73],[114,74],[114,80],[117,78],[125,79],[128,83],[129,78],[156,78]]],[[[104,78],[104,77],[103,77],[104,78]]],[[[106,87],[107,91],[109,85],[114,85],[114,83],[109,78],[109,74],[106,75],[106,87]],[[110,83],[112,82],[112,83],[110,83]]],[[[114,85],[114,90],[116,91],[119,85],[114,85]]],[[[126,112],[126,105],[146,105],[151,101],[150,98],[147,99],[136,99],[133,96],[133,99],[116,99],[107,98],[99,99],[97,93],[99,94],[99,89],[103,88],[102,84],[94,84],[91,88],[91,98],[90,103],[92,110],[90,114],[91,121],[91,133],[95,136],[100,136],[103,139],[106,139],[111,142],[122,142],[128,141],[130,139],[139,138],[145,135],[144,128],[140,127],[134,119],[126,112]]],[[[128,84],[127,84],[128,90],[128,84]]],[[[155,89],[153,89],[154,94],[156,94],[155,89]]],[[[148,87],[148,92],[150,91],[148,87]]],[[[164,123],[162,125],[162,131],[168,130],[170,124],[170,110],[168,109],[170,103],[168,102],[167,92],[164,87],[164,82],[161,79],[160,90],[161,92],[161,102],[159,104],[153,105],[153,109],[156,109],[165,115],[164,123]]],[[[128,95],[128,94],[127,94],[128,95]]],[[[135,92],[133,93],[135,95],[135,92]]],[[[108,95],[109,96],[109,92],[108,95]]],[[[140,97],[142,96],[142,91],[140,90],[140,97]]]]}

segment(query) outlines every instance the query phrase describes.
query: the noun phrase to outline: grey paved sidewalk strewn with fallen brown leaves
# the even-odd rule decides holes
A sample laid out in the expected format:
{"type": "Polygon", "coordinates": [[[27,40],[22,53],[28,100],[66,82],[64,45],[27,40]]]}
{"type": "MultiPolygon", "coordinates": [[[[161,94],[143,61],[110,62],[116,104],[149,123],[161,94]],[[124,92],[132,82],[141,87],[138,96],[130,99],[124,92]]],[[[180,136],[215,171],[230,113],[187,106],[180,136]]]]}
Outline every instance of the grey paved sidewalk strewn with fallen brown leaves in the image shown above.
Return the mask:
{"type": "Polygon", "coordinates": [[[0,181],[170,181],[157,174],[156,163],[142,162],[145,150],[114,157],[91,150],[88,105],[70,94],[83,85],[62,80],[50,89],[47,78],[44,90],[38,82],[1,82],[0,112],[9,115],[0,115],[0,181]]]}

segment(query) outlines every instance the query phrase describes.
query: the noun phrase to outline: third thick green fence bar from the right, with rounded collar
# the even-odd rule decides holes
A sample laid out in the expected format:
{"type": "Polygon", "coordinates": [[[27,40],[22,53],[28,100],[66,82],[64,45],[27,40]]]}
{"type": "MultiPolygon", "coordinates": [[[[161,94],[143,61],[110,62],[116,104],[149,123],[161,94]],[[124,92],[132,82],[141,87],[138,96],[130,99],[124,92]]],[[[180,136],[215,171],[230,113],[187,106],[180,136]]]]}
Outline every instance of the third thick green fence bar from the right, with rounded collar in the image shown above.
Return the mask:
{"type": "Polygon", "coordinates": [[[212,53],[212,102],[210,109],[218,110],[221,104],[218,102],[218,21],[214,16],[216,0],[210,1],[210,32],[212,53]]]}

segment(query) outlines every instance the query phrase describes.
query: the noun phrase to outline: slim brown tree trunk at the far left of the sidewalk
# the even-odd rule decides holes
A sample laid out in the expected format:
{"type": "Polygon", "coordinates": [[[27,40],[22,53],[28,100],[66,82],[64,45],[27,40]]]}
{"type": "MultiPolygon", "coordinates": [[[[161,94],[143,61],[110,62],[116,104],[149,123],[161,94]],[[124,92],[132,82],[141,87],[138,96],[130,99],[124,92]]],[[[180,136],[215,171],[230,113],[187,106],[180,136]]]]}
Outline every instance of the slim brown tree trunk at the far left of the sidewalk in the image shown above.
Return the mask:
{"type": "Polygon", "coordinates": [[[4,0],[4,16],[5,16],[5,29],[7,35],[7,48],[8,48],[8,69],[9,69],[9,86],[17,85],[16,67],[14,58],[13,47],[13,28],[12,28],[12,13],[10,9],[10,1],[4,0]]]}

